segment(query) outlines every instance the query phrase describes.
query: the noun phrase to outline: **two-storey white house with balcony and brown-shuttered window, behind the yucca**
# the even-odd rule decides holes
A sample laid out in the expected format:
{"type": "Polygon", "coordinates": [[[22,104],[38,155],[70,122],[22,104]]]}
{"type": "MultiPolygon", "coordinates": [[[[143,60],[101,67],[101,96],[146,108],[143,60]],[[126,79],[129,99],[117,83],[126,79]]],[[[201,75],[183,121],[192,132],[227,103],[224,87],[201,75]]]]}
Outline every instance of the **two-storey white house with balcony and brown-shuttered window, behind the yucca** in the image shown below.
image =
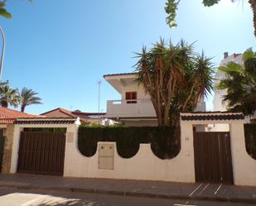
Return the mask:
{"type": "MultiPolygon", "coordinates": [[[[121,95],[119,100],[107,102],[106,117],[126,126],[157,126],[157,115],[150,96],[135,82],[137,73],[106,74],[104,79],[121,95]]],[[[205,112],[201,101],[196,111],[205,112]]]]}

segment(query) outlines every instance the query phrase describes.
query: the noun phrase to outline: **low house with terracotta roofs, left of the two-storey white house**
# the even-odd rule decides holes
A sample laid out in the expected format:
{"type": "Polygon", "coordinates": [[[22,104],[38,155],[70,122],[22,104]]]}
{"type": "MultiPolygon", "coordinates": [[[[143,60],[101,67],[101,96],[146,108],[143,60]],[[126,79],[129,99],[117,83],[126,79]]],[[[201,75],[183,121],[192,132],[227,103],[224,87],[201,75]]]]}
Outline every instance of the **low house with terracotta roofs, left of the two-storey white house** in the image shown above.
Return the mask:
{"type": "Polygon", "coordinates": [[[69,111],[65,108],[56,108],[46,113],[41,113],[46,117],[80,117],[82,124],[92,124],[99,122],[101,125],[109,125],[112,122],[106,119],[106,113],[82,113],[80,110],[69,111]]]}

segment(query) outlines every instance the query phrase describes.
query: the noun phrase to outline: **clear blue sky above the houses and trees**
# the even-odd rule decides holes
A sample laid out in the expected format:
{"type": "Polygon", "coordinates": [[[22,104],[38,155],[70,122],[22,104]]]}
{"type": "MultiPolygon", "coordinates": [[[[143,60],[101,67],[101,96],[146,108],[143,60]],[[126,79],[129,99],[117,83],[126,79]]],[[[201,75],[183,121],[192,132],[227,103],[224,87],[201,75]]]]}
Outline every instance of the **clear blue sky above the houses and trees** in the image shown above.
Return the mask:
{"type": "Polygon", "coordinates": [[[8,0],[13,18],[0,19],[7,39],[2,79],[40,93],[43,104],[27,107],[27,113],[59,107],[98,111],[97,81],[102,79],[100,108],[105,111],[107,99],[119,95],[103,75],[133,71],[133,52],[160,36],[196,41],[196,51],[213,56],[216,66],[225,51],[255,49],[253,15],[242,2],[222,0],[208,8],[201,0],[183,0],[178,27],[170,29],[165,0],[8,0]]]}

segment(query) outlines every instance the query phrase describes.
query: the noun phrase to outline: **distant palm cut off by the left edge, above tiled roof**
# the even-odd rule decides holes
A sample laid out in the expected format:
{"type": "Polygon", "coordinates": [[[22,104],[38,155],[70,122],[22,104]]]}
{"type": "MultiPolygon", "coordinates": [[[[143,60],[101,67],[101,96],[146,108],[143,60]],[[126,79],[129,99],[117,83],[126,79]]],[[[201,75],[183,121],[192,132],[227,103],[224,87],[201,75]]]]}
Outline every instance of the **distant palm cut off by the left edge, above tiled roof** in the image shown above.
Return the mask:
{"type": "Polygon", "coordinates": [[[11,89],[8,82],[0,84],[0,103],[2,107],[7,108],[8,105],[17,107],[19,96],[17,89],[11,89]]]}

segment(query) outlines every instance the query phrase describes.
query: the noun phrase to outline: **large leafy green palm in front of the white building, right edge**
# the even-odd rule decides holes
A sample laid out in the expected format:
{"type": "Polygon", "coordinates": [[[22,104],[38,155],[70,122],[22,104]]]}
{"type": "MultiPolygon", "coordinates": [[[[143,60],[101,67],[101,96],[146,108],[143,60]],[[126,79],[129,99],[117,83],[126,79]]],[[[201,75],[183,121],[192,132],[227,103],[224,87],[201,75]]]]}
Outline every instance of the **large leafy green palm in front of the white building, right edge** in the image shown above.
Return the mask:
{"type": "Polygon", "coordinates": [[[225,79],[220,80],[218,89],[227,89],[223,101],[228,110],[253,116],[256,113],[256,53],[247,50],[241,65],[229,62],[219,69],[225,72],[225,79]]]}

